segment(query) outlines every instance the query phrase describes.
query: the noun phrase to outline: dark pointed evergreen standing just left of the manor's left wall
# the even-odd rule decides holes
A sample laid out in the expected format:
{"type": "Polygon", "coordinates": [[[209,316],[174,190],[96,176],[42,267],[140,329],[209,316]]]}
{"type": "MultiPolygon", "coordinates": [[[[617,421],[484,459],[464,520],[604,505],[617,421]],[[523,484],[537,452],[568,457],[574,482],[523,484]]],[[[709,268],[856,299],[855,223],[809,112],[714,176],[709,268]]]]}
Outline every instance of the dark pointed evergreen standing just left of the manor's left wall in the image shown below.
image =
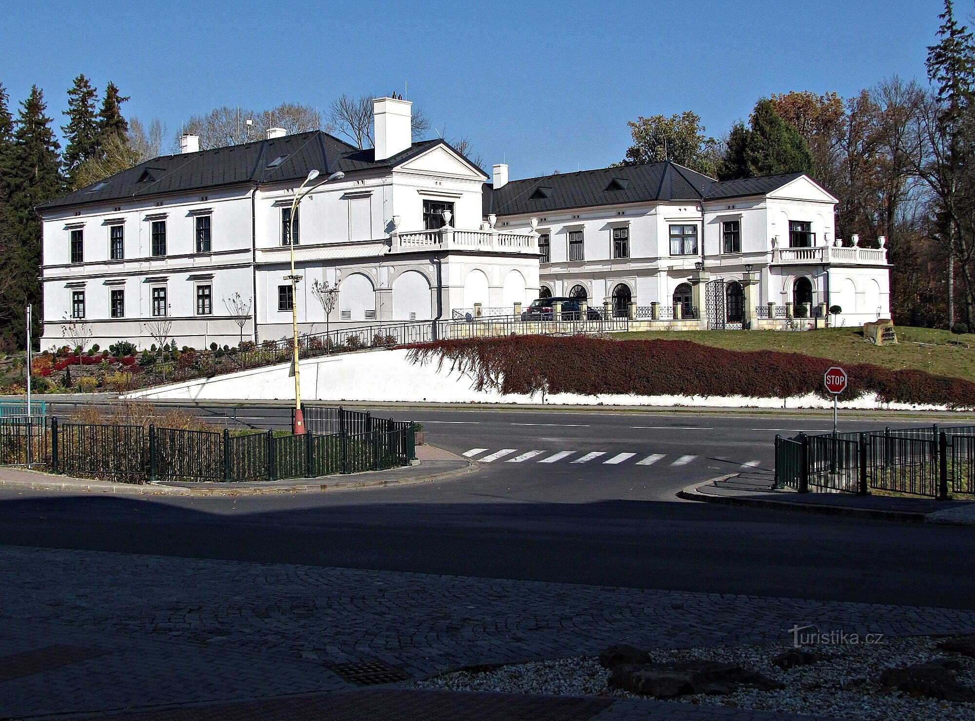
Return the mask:
{"type": "MultiPolygon", "coordinates": [[[[38,306],[41,264],[41,219],[34,207],[59,195],[63,190],[58,157],[59,142],[51,129],[52,119],[45,112],[44,95],[35,85],[27,100],[20,103],[20,114],[11,151],[4,158],[0,175],[9,191],[7,216],[10,225],[7,253],[0,259],[0,341],[22,347],[23,309],[27,303],[38,306]]],[[[41,314],[35,313],[35,318],[41,314]]],[[[38,321],[38,328],[40,324],[38,321]]]]}

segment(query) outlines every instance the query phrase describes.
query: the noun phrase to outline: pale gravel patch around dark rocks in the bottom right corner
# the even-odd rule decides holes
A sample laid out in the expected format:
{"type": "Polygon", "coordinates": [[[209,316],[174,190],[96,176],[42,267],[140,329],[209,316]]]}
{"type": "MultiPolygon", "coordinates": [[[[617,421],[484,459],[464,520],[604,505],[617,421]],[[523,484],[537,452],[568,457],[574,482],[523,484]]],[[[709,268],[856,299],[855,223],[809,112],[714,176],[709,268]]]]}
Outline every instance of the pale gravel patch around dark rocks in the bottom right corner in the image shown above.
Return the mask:
{"type": "MultiPolygon", "coordinates": [[[[975,659],[940,651],[936,644],[942,639],[930,636],[884,638],[881,643],[870,646],[810,647],[806,650],[822,654],[825,659],[788,670],[771,663],[772,659],[787,650],[779,644],[650,650],[650,655],[654,662],[708,660],[738,663],[782,681],[787,686],[782,691],[740,689],[722,696],[688,695],[672,700],[676,702],[869,721],[929,721],[939,718],[975,721],[975,703],[915,698],[886,690],[877,682],[885,668],[949,658],[960,665],[956,680],[975,688],[975,659]]],[[[457,671],[417,682],[413,686],[450,691],[644,698],[608,688],[608,676],[609,671],[596,658],[575,657],[511,664],[483,672],[457,671]]]]}

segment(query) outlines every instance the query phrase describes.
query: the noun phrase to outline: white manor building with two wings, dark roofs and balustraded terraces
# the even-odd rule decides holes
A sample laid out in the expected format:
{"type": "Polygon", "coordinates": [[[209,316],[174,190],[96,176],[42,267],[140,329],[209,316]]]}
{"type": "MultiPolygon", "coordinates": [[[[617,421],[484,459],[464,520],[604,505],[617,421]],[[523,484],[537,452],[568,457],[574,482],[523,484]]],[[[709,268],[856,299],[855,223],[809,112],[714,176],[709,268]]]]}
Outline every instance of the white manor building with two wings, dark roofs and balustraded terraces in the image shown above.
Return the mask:
{"type": "Polygon", "coordinates": [[[837,247],[837,200],[805,176],[719,182],[660,163],[509,182],[497,165],[491,184],[444,140],[412,142],[409,101],[374,111],[375,148],[272,130],[200,151],[186,136],[179,154],[40,206],[41,347],[70,344],[72,323],[102,346],[145,347],[160,324],[178,345],[277,340],[295,301],[300,332],[321,332],[315,281],[337,290],[332,329],[510,314],[539,294],[695,327],[769,327],[768,302],[773,316],[838,304],[847,325],[889,313],[885,250],[837,247]],[[313,169],[295,299],[292,201],[313,169]]]}

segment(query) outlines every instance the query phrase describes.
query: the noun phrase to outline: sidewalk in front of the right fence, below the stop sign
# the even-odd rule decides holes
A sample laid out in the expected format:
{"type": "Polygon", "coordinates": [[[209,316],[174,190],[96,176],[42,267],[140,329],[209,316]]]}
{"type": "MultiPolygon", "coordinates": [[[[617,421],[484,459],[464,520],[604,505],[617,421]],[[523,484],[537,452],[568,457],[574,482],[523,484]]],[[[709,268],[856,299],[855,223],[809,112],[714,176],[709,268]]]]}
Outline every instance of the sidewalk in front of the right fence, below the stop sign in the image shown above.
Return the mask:
{"type": "Polygon", "coordinates": [[[800,494],[770,489],[767,472],[732,473],[683,489],[678,497],[725,505],[873,518],[908,523],[947,523],[975,526],[975,501],[936,501],[928,498],[857,496],[847,493],[800,494]]]}

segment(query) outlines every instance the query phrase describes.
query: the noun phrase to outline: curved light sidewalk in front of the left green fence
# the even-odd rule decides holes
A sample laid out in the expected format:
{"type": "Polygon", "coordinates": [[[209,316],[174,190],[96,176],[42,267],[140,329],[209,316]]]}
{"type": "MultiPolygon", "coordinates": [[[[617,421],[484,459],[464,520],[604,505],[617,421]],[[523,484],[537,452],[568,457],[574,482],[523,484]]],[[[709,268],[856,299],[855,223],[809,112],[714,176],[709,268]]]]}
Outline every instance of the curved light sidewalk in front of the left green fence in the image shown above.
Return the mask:
{"type": "Polygon", "coordinates": [[[74,493],[109,493],[123,496],[248,496],[261,494],[343,491],[375,486],[447,481],[475,472],[477,466],[434,446],[416,447],[417,461],[412,465],[365,473],[289,478],[283,481],[249,483],[168,482],[137,485],[90,478],[73,478],[14,466],[0,467],[0,488],[35,491],[71,491],[74,493]]]}

